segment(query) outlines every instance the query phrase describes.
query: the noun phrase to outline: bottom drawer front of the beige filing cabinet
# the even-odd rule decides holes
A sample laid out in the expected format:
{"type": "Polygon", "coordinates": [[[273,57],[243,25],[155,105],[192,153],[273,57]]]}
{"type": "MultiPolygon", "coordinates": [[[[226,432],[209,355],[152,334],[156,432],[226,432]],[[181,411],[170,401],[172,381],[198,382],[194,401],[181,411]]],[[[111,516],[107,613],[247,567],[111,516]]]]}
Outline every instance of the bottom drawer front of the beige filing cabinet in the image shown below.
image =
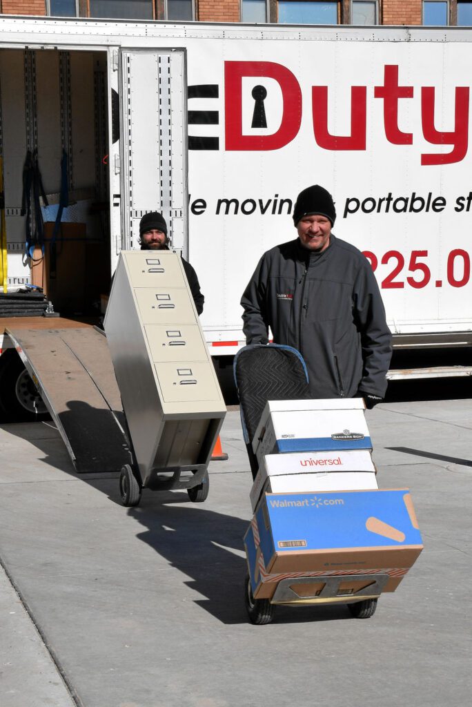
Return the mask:
{"type": "Polygon", "coordinates": [[[155,363],[165,402],[220,400],[213,376],[213,363],[155,363]]]}

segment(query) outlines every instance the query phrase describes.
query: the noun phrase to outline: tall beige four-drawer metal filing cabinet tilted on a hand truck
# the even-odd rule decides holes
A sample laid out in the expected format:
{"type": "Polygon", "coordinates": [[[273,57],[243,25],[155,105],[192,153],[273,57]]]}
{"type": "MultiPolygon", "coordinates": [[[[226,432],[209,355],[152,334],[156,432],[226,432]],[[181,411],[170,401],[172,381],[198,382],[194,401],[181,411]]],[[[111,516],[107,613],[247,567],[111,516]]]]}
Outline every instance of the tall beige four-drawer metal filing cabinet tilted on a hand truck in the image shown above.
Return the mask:
{"type": "Polygon", "coordinates": [[[191,486],[226,407],[177,253],[121,252],[105,332],[142,485],[191,486]]]}

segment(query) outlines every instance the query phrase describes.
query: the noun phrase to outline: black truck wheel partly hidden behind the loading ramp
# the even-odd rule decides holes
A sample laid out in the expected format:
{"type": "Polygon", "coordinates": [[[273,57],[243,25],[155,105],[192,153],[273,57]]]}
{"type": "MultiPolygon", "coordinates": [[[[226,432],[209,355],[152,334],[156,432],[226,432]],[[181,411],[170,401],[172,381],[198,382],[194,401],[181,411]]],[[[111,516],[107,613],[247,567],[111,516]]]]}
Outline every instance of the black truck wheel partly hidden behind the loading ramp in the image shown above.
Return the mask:
{"type": "Polygon", "coordinates": [[[0,356],[0,412],[8,422],[40,422],[50,418],[15,349],[6,349],[0,356]]]}

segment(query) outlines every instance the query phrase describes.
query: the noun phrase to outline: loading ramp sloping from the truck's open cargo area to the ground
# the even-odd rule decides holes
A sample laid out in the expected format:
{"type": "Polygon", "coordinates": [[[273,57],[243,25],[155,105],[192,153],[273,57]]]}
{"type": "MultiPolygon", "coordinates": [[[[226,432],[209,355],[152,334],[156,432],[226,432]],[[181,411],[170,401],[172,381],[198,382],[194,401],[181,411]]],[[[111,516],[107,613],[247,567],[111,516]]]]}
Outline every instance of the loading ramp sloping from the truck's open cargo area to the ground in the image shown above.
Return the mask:
{"type": "Polygon", "coordinates": [[[4,332],[35,382],[76,472],[117,472],[131,462],[131,452],[105,334],[91,325],[53,321],[11,319],[4,322],[4,332]]]}

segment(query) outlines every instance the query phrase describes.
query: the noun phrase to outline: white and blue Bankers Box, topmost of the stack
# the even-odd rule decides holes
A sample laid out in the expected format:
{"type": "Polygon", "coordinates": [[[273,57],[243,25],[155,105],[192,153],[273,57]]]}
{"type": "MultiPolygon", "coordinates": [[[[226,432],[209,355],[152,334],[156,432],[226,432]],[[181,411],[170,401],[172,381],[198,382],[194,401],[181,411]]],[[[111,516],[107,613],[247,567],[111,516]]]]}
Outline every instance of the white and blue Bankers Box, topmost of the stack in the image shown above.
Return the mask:
{"type": "Polygon", "coordinates": [[[372,450],[362,398],[276,400],[264,408],[252,449],[265,455],[326,450],[372,450]]]}

